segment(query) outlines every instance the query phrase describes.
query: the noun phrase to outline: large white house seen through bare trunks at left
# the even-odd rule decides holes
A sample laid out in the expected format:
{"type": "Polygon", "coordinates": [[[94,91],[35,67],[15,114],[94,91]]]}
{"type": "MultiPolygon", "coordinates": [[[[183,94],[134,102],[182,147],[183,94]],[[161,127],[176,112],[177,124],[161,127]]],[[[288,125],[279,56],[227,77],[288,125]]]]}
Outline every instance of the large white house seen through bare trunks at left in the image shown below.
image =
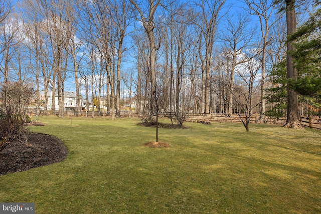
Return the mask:
{"type": "MultiPolygon", "coordinates": [[[[41,93],[41,97],[44,96],[45,92],[40,92],[41,93]]],[[[51,106],[51,102],[52,102],[52,91],[48,92],[48,105],[47,105],[47,109],[48,110],[59,110],[59,102],[58,102],[58,94],[56,93],[55,95],[55,107],[52,108],[51,106]]],[[[75,110],[77,107],[77,97],[76,97],[76,92],[70,92],[70,91],[65,91],[64,92],[64,110],[75,110]]],[[[80,96],[80,104],[82,107],[82,97],[80,96]]]]}

